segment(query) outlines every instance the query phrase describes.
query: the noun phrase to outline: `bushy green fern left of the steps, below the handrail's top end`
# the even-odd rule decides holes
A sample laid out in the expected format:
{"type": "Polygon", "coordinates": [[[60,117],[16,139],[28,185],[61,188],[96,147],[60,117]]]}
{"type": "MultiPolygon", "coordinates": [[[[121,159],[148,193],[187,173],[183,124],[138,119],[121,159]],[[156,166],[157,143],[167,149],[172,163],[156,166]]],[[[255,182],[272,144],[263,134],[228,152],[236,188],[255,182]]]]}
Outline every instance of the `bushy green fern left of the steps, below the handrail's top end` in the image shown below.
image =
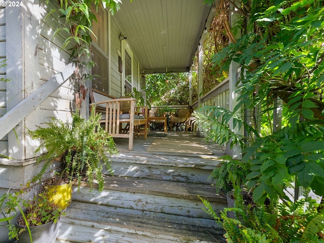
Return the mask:
{"type": "Polygon", "coordinates": [[[87,121],[81,118],[78,112],[72,114],[72,122],[64,123],[55,117],[50,117],[47,127],[38,127],[35,131],[29,131],[31,138],[41,139],[42,143],[35,152],[46,148],[47,153],[37,158],[37,161],[45,160],[41,172],[33,182],[41,180],[45,171],[55,160],[64,163],[63,174],[70,181],[76,180],[78,186],[86,180],[92,185],[96,180],[99,191],[104,187],[103,167],[111,172],[111,154],[117,153],[114,141],[104,129],[100,127],[101,114],[95,114],[92,109],[87,121]]]}

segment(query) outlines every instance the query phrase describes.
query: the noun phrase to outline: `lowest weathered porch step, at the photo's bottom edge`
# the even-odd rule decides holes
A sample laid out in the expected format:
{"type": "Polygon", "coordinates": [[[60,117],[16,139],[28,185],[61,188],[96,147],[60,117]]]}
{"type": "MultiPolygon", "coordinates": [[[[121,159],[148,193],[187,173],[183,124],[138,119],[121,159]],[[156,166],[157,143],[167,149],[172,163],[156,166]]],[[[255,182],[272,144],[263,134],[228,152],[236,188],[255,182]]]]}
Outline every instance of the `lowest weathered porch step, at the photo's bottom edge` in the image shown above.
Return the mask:
{"type": "Polygon", "coordinates": [[[57,242],[225,242],[214,220],[120,209],[73,201],[57,242]]]}

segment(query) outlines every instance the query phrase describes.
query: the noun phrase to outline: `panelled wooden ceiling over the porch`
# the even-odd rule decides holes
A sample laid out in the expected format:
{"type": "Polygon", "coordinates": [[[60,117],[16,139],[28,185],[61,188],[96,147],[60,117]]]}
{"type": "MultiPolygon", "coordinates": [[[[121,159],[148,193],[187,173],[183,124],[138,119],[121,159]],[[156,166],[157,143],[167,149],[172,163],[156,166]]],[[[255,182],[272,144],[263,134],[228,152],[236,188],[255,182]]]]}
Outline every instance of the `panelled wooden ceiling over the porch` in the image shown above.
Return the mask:
{"type": "Polygon", "coordinates": [[[186,72],[207,24],[204,0],[124,0],[112,18],[145,73],[186,72]]]}

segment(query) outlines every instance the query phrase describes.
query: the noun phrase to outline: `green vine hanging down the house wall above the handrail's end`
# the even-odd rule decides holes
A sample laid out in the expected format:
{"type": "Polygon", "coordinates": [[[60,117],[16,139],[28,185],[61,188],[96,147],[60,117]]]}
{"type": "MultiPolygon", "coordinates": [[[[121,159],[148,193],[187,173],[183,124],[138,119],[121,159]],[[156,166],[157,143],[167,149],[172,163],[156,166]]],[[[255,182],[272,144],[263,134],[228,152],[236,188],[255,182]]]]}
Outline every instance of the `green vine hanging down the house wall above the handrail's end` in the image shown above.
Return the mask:
{"type": "MultiPolygon", "coordinates": [[[[130,0],[130,2],[132,1],[130,0]]],[[[47,0],[48,2],[49,0],[47,0]]],[[[64,19],[63,26],[54,32],[54,37],[61,31],[69,35],[65,39],[62,49],[66,49],[70,45],[73,46],[70,50],[70,58],[75,63],[75,79],[79,84],[79,91],[75,97],[78,109],[80,109],[87,93],[85,82],[93,79],[90,71],[95,63],[91,60],[91,46],[93,38],[97,38],[92,31],[93,22],[97,22],[93,10],[98,11],[99,8],[105,6],[113,15],[120,10],[120,4],[121,0],[60,0],[59,7],[52,9],[48,14],[50,16],[53,12],[58,12],[64,19]]]]}

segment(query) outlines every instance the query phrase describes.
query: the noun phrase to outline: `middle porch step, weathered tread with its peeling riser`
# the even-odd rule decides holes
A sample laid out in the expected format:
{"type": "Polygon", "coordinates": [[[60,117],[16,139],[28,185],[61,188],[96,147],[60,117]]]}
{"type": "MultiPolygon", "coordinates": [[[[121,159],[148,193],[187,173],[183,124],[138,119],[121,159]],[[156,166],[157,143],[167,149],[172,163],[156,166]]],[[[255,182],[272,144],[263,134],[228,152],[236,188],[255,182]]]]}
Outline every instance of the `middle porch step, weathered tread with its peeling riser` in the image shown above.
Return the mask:
{"type": "Polygon", "coordinates": [[[216,212],[227,206],[226,197],[215,186],[174,181],[106,176],[100,193],[83,185],[73,192],[73,200],[125,209],[145,210],[188,217],[211,217],[202,210],[199,199],[208,199],[216,212]]]}

